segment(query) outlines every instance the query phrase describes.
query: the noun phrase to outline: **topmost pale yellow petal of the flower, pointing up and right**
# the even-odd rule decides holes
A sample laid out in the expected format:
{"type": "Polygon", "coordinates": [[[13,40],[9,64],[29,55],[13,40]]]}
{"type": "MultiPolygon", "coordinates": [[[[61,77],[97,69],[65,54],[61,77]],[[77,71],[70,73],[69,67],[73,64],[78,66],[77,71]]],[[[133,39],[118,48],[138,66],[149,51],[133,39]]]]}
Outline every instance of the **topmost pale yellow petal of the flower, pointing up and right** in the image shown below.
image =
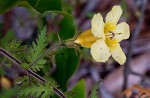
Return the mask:
{"type": "Polygon", "coordinates": [[[112,22],[114,24],[117,24],[119,18],[121,17],[121,14],[121,7],[118,5],[113,6],[112,10],[106,15],[106,23],[112,22]]]}

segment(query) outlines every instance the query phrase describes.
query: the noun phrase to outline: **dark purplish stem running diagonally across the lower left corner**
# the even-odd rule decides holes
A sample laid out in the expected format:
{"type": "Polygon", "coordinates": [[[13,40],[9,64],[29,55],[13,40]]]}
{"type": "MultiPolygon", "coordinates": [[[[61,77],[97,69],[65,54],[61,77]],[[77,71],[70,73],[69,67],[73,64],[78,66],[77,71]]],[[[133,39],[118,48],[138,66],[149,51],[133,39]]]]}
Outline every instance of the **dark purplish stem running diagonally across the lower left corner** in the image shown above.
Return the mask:
{"type": "MultiPolygon", "coordinates": [[[[0,54],[2,54],[3,56],[9,58],[14,64],[16,64],[17,66],[20,67],[20,65],[22,64],[19,60],[17,60],[16,58],[14,58],[11,54],[9,54],[8,52],[6,52],[4,49],[0,48],[0,54]]],[[[21,68],[21,67],[20,67],[21,68]]],[[[22,68],[21,68],[22,69],[22,68]]],[[[25,69],[23,69],[25,70],[25,69]]],[[[36,74],[35,72],[33,72],[31,69],[25,70],[30,76],[32,76],[33,78],[37,79],[39,82],[41,82],[42,84],[45,84],[46,82],[48,82],[47,80],[45,80],[43,77],[39,76],[38,74],[36,74]]],[[[66,98],[65,95],[57,88],[55,88],[52,84],[50,84],[51,87],[53,88],[54,92],[60,96],[61,98],[66,98]]]]}

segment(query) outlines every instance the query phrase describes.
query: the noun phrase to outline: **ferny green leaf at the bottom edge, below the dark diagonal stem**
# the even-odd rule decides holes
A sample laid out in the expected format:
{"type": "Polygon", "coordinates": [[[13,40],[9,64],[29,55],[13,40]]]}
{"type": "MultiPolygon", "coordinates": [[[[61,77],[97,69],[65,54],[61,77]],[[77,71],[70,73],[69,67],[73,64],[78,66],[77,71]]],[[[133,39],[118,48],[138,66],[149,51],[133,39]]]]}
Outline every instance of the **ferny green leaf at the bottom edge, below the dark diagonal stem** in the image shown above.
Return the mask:
{"type": "Polygon", "coordinates": [[[31,87],[20,90],[19,92],[19,97],[34,96],[36,98],[48,98],[51,95],[53,95],[53,89],[48,84],[38,84],[38,86],[32,85],[31,87]]]}

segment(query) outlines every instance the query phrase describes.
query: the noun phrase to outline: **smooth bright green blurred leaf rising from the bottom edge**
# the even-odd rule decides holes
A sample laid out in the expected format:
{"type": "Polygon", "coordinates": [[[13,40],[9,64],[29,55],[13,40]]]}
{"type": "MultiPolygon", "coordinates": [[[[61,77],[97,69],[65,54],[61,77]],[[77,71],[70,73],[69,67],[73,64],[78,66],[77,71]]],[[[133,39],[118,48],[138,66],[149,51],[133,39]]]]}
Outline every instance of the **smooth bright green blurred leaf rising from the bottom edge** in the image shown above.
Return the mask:
{"type": "Polygon", "coordinates": [[[73,88],[73,92],[76,92],[77,95],[73,96],[72,98],[86,98],[86,88],[85,88],[85,81],[80,80],[73,88]]]}

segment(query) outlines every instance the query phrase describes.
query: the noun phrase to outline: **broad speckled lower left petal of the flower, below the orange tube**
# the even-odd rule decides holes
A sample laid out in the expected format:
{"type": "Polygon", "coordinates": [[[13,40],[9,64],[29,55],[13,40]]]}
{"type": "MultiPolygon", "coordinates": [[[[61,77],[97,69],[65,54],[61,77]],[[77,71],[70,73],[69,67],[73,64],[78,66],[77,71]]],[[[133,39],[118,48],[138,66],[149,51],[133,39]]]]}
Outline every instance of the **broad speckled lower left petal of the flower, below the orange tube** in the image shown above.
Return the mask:
{"type": "Polygon", "coordinates": [[[95,61],[105,62],[110,57],[111,53],[104,40],[97,40],[91,46],[91,54],[95,61]]]}

